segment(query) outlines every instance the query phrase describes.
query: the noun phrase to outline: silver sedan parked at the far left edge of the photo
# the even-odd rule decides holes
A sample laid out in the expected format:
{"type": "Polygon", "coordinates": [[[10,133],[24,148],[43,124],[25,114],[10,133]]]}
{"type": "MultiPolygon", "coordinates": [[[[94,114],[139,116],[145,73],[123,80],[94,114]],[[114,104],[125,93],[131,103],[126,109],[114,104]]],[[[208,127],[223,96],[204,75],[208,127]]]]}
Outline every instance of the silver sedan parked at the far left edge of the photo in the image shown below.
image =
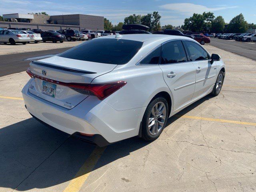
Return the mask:
{"type": "Polygon", "coordinates": [[[0,31],[0,42],[7,44],[8,42],[12,45],[16,43],[26,44],[30,41],[29,35],[24,34],[18,30],[1,30],[0,31]]]}

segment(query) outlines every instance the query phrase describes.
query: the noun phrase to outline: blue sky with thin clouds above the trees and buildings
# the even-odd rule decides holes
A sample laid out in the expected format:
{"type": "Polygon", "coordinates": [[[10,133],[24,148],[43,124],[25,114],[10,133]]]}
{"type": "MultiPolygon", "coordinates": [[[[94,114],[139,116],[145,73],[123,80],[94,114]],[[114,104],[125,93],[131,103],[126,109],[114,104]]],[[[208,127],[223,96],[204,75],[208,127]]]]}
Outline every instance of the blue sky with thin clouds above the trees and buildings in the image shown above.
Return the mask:
{"type": "Polygon", "coordinates": [[[229,22],[242,13],[249,23],[256,23],[256,0],[0,0],[0,15],[46,12],[49,15],[90,14],[104,16],[112,24],[123,22],[131,14],[158,11],[161,26],[182,25],[193,13],[214,12],[229,22]]]}

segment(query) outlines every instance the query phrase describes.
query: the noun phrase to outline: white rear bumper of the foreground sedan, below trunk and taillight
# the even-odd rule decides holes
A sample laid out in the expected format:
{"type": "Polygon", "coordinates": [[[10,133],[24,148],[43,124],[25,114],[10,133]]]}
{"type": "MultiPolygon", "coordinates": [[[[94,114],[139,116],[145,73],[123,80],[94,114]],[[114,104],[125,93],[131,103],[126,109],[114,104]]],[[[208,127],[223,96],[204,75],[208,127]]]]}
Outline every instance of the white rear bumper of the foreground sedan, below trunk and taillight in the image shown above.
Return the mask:
{"type": "Polygon", "coordinates": [[[74,108],[66,109],[31,94],[29,84],[30,81],[22,90],[28,112],[58,130],[99,146],[103,146],[100,140],[110,144],[138,135],[146,107],[117,111],[95,96],[88,96],[74,108]],[[93,136],[80,136],[78,133],[93,136]]]}

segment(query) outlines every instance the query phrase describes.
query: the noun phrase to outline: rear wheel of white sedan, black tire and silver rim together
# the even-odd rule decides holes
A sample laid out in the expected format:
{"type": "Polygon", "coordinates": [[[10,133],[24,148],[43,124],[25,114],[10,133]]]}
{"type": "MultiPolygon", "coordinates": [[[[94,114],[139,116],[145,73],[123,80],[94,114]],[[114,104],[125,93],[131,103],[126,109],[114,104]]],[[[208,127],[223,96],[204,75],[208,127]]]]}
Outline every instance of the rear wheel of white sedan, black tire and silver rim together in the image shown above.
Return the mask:
{"type": "Polygon", "coordinates": [[[148,104],[142,118],[141,136],[144,140],[156,140],[166,126],[168,103],[164,97],[155,98],[148,104]]]}

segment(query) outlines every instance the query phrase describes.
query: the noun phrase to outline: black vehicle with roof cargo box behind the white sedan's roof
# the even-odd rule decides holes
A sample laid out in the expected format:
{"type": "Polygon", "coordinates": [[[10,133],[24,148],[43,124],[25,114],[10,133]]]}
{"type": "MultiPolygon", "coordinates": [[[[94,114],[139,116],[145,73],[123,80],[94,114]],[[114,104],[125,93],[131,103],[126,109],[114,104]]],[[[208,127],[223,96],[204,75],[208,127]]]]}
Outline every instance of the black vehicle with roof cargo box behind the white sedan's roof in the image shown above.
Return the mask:
{"type": "Polygon", "coordinates": [[[140,25],[140,24],[128,24],[122,26],[122,31],[119,34],[151,34],[147,30],[149,29],[148,26],[140,25]]]}

